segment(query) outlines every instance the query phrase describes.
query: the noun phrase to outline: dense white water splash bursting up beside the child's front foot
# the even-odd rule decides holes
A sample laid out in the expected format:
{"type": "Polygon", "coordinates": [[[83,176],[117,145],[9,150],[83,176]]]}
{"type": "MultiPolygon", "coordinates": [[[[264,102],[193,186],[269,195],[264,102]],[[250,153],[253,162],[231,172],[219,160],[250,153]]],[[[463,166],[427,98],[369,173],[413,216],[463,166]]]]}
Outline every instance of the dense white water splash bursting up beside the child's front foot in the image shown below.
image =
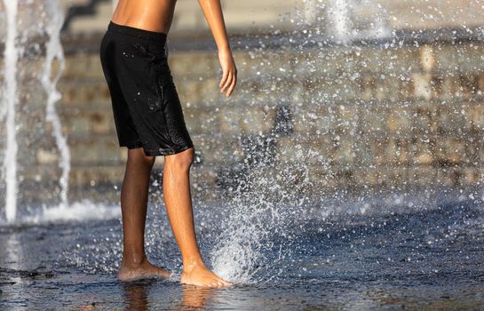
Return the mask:
{"type": "Polygon", "coordinates": [[[285,273],[279,263],[293,251],[287,229],[293,224],[290,219],[304,218],[300,211],[307,203],[304,189],[310,185],[304,156],[298,167],[278,164],[284,154],[275,146],[290,129],[289,124],[275,124],[268,135],[241,136],[246,156],[235,176],[234,197],[226,204],[227,219],[210,253],[214,271],[231,282],[269,282],[285,273]],[[289,184],[294,191],[287,191],[289,184]],[[274,237],[281,237],[284,245],[276,243],[274,237]]]}

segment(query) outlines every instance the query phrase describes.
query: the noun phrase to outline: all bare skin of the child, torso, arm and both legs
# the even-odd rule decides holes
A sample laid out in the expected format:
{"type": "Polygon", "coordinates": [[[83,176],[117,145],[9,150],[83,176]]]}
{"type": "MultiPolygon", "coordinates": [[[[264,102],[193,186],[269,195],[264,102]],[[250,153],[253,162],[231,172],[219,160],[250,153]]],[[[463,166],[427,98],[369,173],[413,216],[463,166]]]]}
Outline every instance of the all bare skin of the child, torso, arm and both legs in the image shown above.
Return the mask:
{"type": "MultiPolygon", "coordinates": [[[[167,34],[171,27],[176,0],[119,0],[112,21],[167,34]]],[[[229,97],[237,82],[237,69],[228,44],[226,26],[219,0],[199,0],[218,47],[218,60],[223,71],[220,92],[229,97]]],[[[181,17],[183,18],[183,16],[181,17]]],[[[194,232],[189,169],[194,148],[165,156],[163,196],[173,233],[183,259],[181,283],[221,287],[225,280],[204,264],[194,232]]],[[[155,156],[146,156],[142,148],[128,150],[128,163],[123,180],[121,205],[123,211],[123,261],[119,278],[131,281],[145,277],[169,277],[171,273],[152,265],[144,250],[149,176],[155,156]]]]}

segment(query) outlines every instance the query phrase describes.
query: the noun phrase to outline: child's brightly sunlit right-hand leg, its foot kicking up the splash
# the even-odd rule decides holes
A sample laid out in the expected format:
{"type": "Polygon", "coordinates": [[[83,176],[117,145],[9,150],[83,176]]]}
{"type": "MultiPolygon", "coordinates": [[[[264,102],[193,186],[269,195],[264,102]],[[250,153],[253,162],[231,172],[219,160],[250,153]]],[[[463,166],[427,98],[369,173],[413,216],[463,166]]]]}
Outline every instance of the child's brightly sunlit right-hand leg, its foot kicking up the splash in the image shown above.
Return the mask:
{"type": "Polygon", "coordinates": [[[205,267],[196,242],[190,194],[190,166],[193,158],[194,148],[165,156],[163,170],[166,210],[183,259],[181,282],[214,287],[228,285],[205,267]]]}

